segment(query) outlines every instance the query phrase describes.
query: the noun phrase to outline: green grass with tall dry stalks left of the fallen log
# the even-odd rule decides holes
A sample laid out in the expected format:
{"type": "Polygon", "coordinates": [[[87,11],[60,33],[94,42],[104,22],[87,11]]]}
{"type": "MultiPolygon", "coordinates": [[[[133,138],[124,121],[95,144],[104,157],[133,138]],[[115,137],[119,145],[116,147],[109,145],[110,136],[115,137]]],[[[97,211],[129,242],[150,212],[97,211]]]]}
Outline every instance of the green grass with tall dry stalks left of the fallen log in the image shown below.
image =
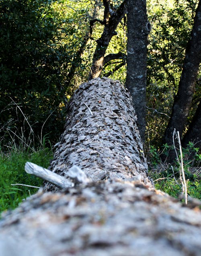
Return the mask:
{"type": "Polygon", "coordinates": [[[0,213],[16,208],[22,200],[38,190],[38,188],[11,184],[36,187],[43,184],[43,180],[25,172],[25,163],[29,161],[47,168],[50,159],[53,158],[49,134],[43,136],[43,128],[49,117],[45,120],[39,136],[33,132],[29,118],[23,113],[21,107],[16,105],[16,109],[22,113],[23,122],[29,129],[26,130],[25,126],[22,126],[20,130],[13,131],[9,127],[0,126],[0,131],[5,129],[7,131],[4,136],[9,135],[7,144],[3,143],[4,138],[0,139],[0,213]],[[28,137],[25,136],[27,132],[28,137]]]}

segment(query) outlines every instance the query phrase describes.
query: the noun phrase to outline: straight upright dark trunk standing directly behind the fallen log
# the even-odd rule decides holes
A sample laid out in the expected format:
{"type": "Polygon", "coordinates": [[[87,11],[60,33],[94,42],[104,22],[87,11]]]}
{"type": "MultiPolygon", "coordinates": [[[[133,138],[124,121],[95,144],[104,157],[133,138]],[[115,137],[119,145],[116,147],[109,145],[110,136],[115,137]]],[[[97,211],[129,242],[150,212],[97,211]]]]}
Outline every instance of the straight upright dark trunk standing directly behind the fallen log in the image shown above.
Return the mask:
{"type": "Polygon", "coordinates": [[[146,0],[127,0],[127,76],[126,87],[133,97],[137,124],[142,140],[146,128],[146,73],[147,37],[150,23],[147,19],[146,0]]]}

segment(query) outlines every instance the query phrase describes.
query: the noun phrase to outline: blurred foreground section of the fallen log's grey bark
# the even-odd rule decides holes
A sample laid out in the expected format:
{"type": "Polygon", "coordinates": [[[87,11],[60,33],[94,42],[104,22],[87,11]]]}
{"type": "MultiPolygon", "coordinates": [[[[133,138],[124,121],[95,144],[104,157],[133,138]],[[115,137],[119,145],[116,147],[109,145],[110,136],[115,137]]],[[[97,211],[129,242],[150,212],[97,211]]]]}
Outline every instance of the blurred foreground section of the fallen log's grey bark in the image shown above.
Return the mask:
{"type": "Polygon", "coordinates": [[[201,213],[142,184],[38,193],[0,221],[1,256],[200,256],[201,213]]]}

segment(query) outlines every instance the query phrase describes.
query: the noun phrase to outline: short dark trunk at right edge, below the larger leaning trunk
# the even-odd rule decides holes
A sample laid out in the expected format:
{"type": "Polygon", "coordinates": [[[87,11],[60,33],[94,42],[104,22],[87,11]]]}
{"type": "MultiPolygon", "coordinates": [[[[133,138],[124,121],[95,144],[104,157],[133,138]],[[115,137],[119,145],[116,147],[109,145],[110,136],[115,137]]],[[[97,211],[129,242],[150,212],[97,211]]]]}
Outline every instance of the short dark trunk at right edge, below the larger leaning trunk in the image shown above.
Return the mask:
{"type": "Polygon", "coordinates": [[[189,141],[195,143],[195,147],[201,149],[201,101],[197,106],[197,110],[189,125],[189,129],[182,140],[182,146],[186,147],[189,141]]]}

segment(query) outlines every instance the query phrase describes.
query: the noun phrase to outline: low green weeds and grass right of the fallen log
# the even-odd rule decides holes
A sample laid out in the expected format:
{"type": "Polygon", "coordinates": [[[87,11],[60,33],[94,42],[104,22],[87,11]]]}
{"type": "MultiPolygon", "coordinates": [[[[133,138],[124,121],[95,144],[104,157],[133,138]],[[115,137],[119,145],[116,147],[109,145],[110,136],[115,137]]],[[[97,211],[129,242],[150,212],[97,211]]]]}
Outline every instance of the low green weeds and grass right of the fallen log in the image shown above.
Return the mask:
{"type": "MultiPolygon", "coordinates": [[[[164,145],[163,151],[150,147],[148,154],[149,175],[154,180],[156,189],[166,192],[175,198],[182,198],[182,184],[180,182],[180,163],[175,160],[168,164],[161,161],[161,154],[168,156],[169,146],[164,145]]],[[[180,156],[179,156],[180,157],[180,156]]],[[[183,149],[183,163],[187,184],[187,194],[201,200],[201,154],[199,148],[189,142],[183,149]]]]}

